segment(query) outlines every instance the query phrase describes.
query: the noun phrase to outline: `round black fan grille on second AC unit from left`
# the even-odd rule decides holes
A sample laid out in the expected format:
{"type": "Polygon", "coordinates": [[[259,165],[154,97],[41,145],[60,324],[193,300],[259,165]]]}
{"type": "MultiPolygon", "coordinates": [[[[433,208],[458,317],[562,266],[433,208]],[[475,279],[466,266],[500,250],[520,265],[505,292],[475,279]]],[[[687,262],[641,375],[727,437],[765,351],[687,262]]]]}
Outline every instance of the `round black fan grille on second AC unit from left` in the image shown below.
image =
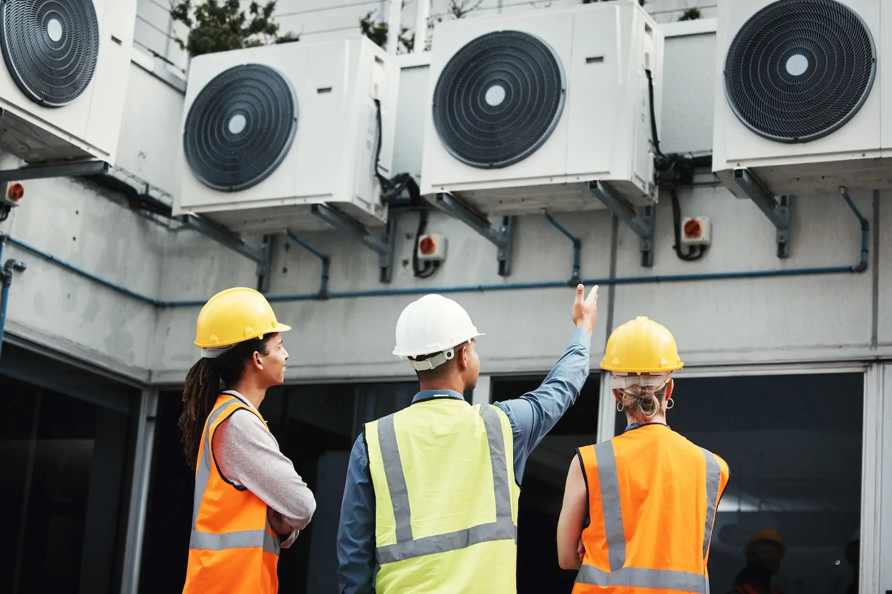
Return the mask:
{"type": "Polygon", "coordinates": [[[215,190],[245,190],[275,171],[296,132],[291,83],[268,66],[235,66],[195,97],[183,137],[186,161],[215,190]]]}

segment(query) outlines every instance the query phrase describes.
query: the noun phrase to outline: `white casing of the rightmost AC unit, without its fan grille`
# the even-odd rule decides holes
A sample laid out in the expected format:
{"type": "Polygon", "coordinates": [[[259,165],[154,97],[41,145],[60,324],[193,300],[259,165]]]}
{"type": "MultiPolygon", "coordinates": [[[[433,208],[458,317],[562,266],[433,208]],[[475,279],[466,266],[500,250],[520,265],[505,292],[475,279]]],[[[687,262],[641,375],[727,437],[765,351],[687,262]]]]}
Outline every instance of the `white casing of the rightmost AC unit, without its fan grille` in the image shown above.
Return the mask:
{"type": "Polygon", "coordinates": [[[834,132],[810,142],[776,142],[745,126],[731,108],[725,84],[725,60],[739,29],[774,0],[719,0],[713,170],[739,198],[747,198],[734,181],[733,170],[749,169],[769,193],[883,189],[892,187],[892,109],[883,109],[881,96],[892,92],[892,46],[881,32],[892,31],[892,10],[881,0],[837,0],[854,11],[870,30],[877,52],[876,78],[861,108],[834,132]],[[881,14],[889,27],[881,27],[881,14]]]}

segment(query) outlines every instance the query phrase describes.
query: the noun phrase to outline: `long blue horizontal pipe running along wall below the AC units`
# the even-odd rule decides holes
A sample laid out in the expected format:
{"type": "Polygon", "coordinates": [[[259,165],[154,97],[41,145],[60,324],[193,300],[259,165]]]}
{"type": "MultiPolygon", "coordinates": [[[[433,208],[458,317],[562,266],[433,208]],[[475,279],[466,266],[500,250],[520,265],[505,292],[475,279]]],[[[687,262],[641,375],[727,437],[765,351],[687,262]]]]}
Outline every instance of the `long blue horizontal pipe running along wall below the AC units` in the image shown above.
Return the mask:
{"type": "MultiPolygon", "coordinates": [[[[852,266],[822,266],[816,268],[789,268],[786,270],[756,270],[756,271],[741,271],[741,272],[732,272],[732,273],[703,273],[703,274],[665,274],[665,275],[657,275],[657,276],[629,276],[624,278],[605,278],[605,279],[585,279],[581,282],[587,285],[632,285],[632,284],[647,284],[651,282],[682,282],[682,281],[722,281],[728,279],[752,279],[752,278],[772,278],[772,277],[782,277],[782,276],[813,276],[813,275],[821,275],[821,274],[844,274],[844,273],[863,273],[867,270],[867,256],[868,256],[868,235],[870,232],[870,224],[867,219],[861,214],[857,207],[855,207],[855,202],[852,199],[848,198],[847,194],[843,194],[843,198],[846,199],[848,206],[852,209],[852,212],[855,213],[855,216],[858,218],[858,221],[861,223],[861,260],[852,266]]],[[[24,243],[20,240],[15,240],[12,237],[3,236],[0,234],[0,238],[5,237],[6,240],[10,241],[13,245],[16,245],[20,248],[26,249],[32,254],[37,256],[41,256],[54,264],[58,264],[62,266],[62,268],[66,268],[73,273],[78,273],[81,276],[86,277],[92,281],[96,281],[99,284],[102,284],[109,289],[116,290],[124,295],[128,295],[129,297],[134,297],[140,301],[145,303],[155,305],[157,307],[201,307],[204,305],[204,300],[191,300],[191,301],[160,301],[157,299],[153,299],[152,297],[145,297],[144,295],[140,295],[135,293],[129,289],[124,289],[119,285],[116,285],[112,282],[105,281],[95,276],[94,274],[87,273],[86,271],[74,266],[72,264],[68,264],[50,254],[47,254],[45,251],[42,251],[37,248],[33,248],[29,246],[27,243],[24,243]]],[[[315,251],[315,250],[313,250],[315,251]]],[[[471,292],[480,292],[480,291],[500,291],[500,290],[521,290],[521,289],[559,289],[566,288],[566,281],[541,281],[541,282],[520,282],[520,283],[504,283],[504,284],[489,284],[489,285],[461,285],[456,287],[414,287],[414,288],[406,288],[406,289],[370,289],[370,290],[359,290],[359,291],[334,291],[330,293],[326,293],[325,298],[330,299],[351,299],[358,297],[393,297],[393,296],[408,296],[408,295],[423,295],[426,293],[471,293],[471,292]]],[[[268,296],[267,299],[270,302],[287,302],[287,301],[310,301],[314,299],[318,299],[318,293],[299,293],[294,295],[272,295],[268,296]]],[[[4,301],[5,303],[5,301],[4,301]]]]}

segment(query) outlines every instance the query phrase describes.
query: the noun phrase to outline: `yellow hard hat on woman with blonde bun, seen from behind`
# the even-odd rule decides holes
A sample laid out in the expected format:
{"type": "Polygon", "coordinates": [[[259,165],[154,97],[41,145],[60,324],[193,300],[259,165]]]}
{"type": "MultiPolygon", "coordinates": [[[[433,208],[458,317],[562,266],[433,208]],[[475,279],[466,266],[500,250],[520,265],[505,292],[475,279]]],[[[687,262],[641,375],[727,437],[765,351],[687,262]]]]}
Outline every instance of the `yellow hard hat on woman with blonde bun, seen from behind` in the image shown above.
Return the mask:
{"type": "Polygon", "coordinates": [[[613,331],[601,362],[602,369],[623,373],[665,373],[683,365],[672,333],[644,316],[613,331]]]}

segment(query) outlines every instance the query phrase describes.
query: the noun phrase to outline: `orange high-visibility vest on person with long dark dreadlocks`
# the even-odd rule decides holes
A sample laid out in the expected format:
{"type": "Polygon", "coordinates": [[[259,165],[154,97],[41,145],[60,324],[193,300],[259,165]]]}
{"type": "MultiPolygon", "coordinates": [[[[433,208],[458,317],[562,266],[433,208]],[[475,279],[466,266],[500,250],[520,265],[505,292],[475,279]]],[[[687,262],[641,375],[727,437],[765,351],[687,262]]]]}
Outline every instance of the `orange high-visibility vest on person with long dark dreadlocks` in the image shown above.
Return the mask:
{"type": "Polygon", "coordinates": [[[184,594],[274,594],[279,541],[267,504],[220,474],[211,443],[235,411],[260,413],[233,395],[220,395],[204,424],[195,469],[192,535],[184,594]]]}

